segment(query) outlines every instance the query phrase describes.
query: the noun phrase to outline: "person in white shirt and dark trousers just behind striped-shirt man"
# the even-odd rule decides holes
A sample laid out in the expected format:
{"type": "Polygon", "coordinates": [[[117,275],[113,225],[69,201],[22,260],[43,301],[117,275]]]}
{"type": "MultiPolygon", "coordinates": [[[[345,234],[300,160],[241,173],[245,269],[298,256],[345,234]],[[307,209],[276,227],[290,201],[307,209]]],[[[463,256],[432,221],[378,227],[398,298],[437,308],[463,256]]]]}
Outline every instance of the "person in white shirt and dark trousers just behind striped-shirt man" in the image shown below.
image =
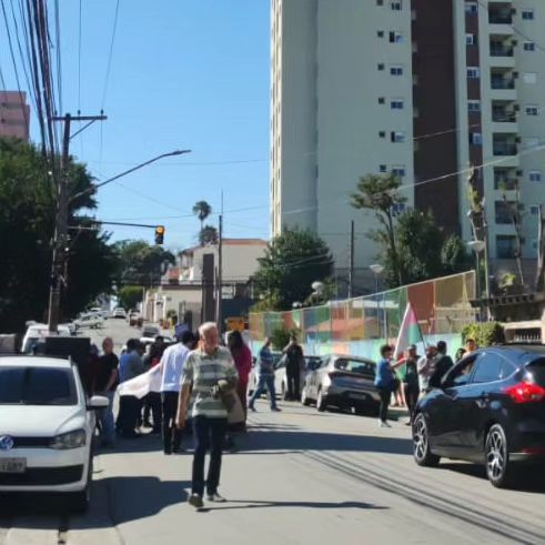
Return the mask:
{"type": "Polygon", "coordinates": [[[180,381],[185,360],[195,347],[198,340],[191,331],[184,331],[179,341],[163,352],[160,363],[164,454],[178,453],[181,450],[182,432],[175,426],[180,381]]]}

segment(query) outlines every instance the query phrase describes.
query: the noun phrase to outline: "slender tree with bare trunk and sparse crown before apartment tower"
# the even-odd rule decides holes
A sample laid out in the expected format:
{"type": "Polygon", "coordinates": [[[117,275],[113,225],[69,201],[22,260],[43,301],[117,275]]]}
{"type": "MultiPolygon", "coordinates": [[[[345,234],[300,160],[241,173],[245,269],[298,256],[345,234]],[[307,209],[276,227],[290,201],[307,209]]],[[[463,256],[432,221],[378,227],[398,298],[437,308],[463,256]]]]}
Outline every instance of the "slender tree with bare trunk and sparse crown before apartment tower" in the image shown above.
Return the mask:
{"type": "Polygon", "coordinates": [[[404,269],[400,262],[394,233],[395,205],[406,201],[398,191],[400,185],[401,180],[394,174],[367,174],[360,178],[357,191],[351,195],[352,206],[359,210],[372,210],[379,220],[382,229],[371,231],[369,236],[375,242],[387,245],[392,264],[391,274],[396,279],[397,285],[405,283],[404,269]]]}

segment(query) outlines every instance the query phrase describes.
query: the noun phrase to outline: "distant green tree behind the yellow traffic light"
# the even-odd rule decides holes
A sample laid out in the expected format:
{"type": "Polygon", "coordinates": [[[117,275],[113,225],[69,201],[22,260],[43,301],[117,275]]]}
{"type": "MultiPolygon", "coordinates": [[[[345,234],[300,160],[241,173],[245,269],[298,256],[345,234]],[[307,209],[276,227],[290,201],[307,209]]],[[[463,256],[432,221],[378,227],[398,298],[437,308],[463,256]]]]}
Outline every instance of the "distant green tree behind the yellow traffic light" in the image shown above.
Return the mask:
{"type": "Polygon", "coordinates": [[[157,285],[168,264],[174,264],[174,255],[162,246],[142,240],[124,240],[115,243],[119,255],[118,282],[121,285],[157,285]]]}

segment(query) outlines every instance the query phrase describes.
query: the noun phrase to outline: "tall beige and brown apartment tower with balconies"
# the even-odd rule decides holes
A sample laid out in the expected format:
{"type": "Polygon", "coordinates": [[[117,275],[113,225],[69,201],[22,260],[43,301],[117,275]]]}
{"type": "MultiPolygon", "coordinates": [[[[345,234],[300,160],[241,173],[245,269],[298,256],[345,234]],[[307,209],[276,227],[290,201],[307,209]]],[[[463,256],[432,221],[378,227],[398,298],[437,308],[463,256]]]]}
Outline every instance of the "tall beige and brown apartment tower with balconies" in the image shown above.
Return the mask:
{"type": "Polygon", "coordinates": [[[374,262],[373,214],[350,206],[359,176],[394,172],[408,206],[471,239],[467,168],[481,169],[493,260],[509,259],[503,201],[525,204],[535,258],[545,202],[545,2],[272,0],[271,231],[300,225],[347,266],[374,262]],[[542,42],[542,43],[539,43],[542,42]],[[461,172],[464,171],[464,172],[461,172]]]}

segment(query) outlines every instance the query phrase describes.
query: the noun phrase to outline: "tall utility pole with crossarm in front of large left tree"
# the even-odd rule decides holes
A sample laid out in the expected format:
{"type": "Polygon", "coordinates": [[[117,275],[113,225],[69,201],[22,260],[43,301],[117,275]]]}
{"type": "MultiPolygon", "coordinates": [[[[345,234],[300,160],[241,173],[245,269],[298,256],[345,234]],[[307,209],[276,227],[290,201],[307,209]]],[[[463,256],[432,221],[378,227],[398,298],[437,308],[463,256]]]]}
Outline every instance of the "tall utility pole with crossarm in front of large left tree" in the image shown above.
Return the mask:
{"type": "MultiPolygon", "coordinates": [[[[67,264],[68,246],[68,216],[70,196],[68,194],[68,181],[70,178],[70,127],[72,121],[89,121],[84,127],[89,127],[94,121],[105,120],[105,115],[78,115],[70,113],[63,117],[54,117],[52,121],[64,123],[62,138],[62,155],[59,180],[57,180],[57,213],[53,235],[53,260],[51,265],[51,285],[49,291],[48,325],[50,333],[57,333],[59,325],[60,304],[61,304],[61,283],[65,283],[64,270],[67,264]]],[[[78,131],[78,133],[81,131],[78,131]]],[[[74,134],[75,135],[75,134],[74,134]]]]}

